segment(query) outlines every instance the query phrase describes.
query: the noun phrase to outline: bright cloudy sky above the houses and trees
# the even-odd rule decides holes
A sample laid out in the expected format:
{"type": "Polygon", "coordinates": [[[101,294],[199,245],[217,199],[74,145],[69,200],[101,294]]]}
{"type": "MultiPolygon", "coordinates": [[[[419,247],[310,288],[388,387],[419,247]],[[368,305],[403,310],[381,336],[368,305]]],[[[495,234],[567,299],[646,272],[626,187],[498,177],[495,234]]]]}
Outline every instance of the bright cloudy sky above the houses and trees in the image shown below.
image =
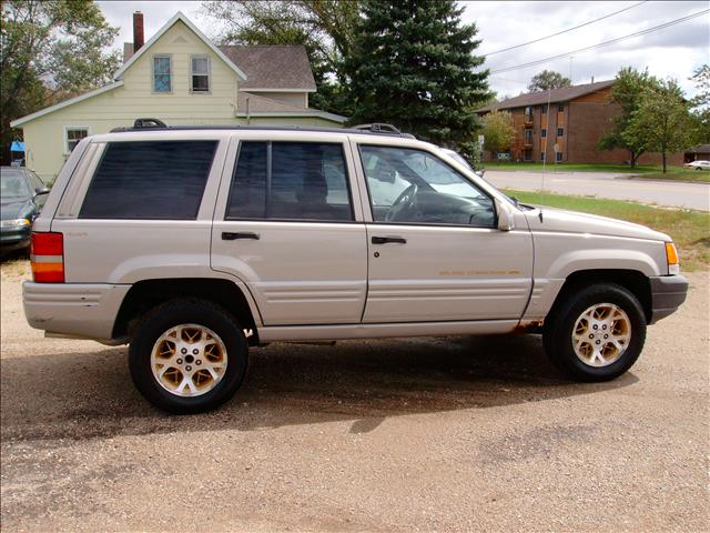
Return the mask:
{"type": "MultiPolygon", "coordinates": [[[[216,37],[220,28],[206,18],[200,1],[99,1],[112,26],[121,28],[115,48],[132,41],[133,11],[143,12],[145,40],[150,39],[176,11],[183,11],[205,34],[216,37]]],[[[551,56],[567,54],[588,46],[636,33],[665,22],[710,8],[710,1],[521,1],[460,2],[465,22],[475,22],[481,43],[477,53],[488,54],[630,8],[605,20],[537,43],[486,57],[489,83],[499,97],[526,92],[535,73],[556,70],[571,78],[574,84],[612,79],[622,67],[648,68],[660,78],[678,80],[689,97],[694,86],[688,80],[693,69],[710,62],[710,13],[628,39],[611,46],[556,59],[542,64],[496,73],[551,56]]]]}

